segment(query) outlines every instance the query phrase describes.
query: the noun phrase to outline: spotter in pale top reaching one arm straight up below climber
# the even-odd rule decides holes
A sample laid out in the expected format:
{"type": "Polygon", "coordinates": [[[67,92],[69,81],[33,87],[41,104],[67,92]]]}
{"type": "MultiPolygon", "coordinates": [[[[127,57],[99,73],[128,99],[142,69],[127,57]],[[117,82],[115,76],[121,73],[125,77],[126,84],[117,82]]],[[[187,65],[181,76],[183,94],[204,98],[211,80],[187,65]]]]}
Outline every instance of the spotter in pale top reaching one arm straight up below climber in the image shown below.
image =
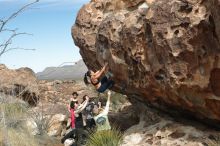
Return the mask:
{"type": "Polygon", "coordinates": [[[106,102],[105,109],[100,111],[100,113],[94,117],[94,120],[97,126],[97,131],[111,129],[111,126],[108,120],[110,98],[111,98],[111,91],[108,91],[108,100],[106,102]]]}

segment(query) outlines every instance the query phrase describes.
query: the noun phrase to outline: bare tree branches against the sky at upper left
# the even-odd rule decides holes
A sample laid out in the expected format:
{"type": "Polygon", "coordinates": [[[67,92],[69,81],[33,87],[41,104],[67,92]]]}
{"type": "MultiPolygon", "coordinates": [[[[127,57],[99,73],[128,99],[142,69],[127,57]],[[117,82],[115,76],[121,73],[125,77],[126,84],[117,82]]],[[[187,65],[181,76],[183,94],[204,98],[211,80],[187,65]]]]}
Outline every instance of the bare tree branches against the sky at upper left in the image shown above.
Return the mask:
{"type": "Polygon", "coordinates": [[[15,19],[20,13],[24,12],[25,10],[31,8],[32,5],[34,5],[35,3],[39,2],[39,0],[35,0],[31,3],[28,3],[26,5],[24,5],[23,7],[21,7],[19,10],[17,10],[16,12],[14,12],[13,14],[11,14],[9,17],[7,18],[2,18],[0,19],[0,36],[4,35],[4,33],[9,33],[9,36],[7,37],[7,39],[5,41],[0,40],[0,57],[9,51],[12,50],[35,50],[35,49],[25,49],[25,48],[19,48],[19,47],[10,47],[10,45],[12,44],[12,40],[20,35],[31,35],[28,34],[26,32],[18,32],[18,29],[9,29],[7,27],[7,24],[15,19]]]}

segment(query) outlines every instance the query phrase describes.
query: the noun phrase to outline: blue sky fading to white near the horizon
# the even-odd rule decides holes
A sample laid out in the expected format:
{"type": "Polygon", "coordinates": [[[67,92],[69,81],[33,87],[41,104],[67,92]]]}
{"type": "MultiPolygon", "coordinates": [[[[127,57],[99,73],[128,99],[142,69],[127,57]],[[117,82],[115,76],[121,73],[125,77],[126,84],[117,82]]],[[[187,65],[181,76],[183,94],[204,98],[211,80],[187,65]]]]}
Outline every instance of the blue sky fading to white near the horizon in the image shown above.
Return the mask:
{"type": "MultiPolygon", "coordinates": [[[[30,2],[33,0],[0,0],[0,18],[7,18],[30,2]]],[[[7,28],[18,28],[18,32],[27,32],[33,36],[18,36],[11,47],[36,50],[10,51],[1,56],[0,63],[9,68],[29,67],[39,72],[46,67],[81,59],[79,49],[71,37],[71,27],[79,9],[88,2],[89,0],[40,0],[32,9],[21,13],[7,28]]],[[[6,38],[7,34],[0,35],[1,42],[6,38]]]]}

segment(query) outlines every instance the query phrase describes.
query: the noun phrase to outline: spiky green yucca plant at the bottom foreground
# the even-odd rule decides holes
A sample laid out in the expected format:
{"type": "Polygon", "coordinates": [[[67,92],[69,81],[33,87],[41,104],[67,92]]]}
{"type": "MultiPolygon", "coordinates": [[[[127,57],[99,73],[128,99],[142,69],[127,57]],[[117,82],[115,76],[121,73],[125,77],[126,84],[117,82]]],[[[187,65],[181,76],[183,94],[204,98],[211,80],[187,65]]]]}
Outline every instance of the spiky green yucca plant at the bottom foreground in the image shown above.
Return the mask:
{"type": "Polygon", "coordinates": [[[118,128],[111,130],[95,131],[90,134],[87,146],[119,146],[123,134],[118,128]]]}

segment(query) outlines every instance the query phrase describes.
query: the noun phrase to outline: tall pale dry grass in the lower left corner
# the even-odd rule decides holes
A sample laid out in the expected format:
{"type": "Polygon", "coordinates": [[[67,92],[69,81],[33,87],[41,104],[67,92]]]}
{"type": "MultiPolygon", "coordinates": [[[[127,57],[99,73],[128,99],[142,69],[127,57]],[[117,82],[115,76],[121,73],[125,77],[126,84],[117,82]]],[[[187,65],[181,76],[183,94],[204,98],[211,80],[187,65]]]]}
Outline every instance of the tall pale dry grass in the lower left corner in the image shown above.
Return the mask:
{"type": "Polygon", "coordinates": [[[24,122],[27,106],[13,97],[2,97],[0,105],[0,146],[37,146],[24,122]]]}

